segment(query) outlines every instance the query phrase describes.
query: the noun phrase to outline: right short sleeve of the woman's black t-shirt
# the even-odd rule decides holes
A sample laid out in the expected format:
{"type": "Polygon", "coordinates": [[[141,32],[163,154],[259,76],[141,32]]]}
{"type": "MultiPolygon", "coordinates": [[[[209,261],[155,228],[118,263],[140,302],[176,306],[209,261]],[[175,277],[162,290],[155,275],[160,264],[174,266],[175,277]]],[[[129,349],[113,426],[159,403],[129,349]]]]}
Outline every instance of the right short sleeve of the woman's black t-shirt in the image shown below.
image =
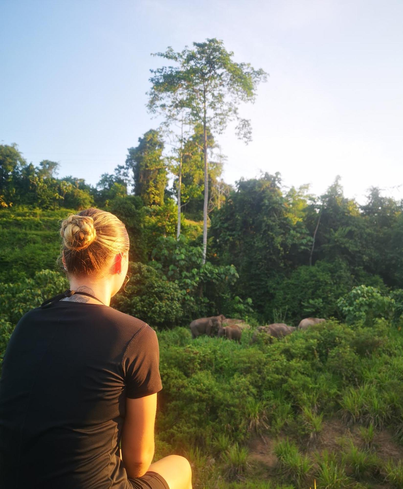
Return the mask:
{"type": "Polygon", "coordinates": [[[132,338],[122,363],[126,397],[137,399],[162,389],[157,334],[148,324],[132,338]]]}

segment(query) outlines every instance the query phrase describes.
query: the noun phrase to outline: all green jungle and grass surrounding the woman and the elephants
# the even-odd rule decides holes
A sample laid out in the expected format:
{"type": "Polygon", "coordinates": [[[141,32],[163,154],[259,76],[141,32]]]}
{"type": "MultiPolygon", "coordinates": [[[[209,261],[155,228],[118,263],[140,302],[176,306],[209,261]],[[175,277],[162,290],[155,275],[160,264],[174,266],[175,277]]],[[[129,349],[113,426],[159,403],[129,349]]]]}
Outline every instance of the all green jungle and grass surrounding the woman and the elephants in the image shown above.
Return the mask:
{"type": "Polygon", "coordinates": [[[232,188],[211,163],[203,264],[202,153],[194,145],[184,172],[177,239],[160,137],[144,134],[95,187],[0,146],[1,357],[22,314],[68,287],[60,220],[98,206],[131,239],[112,306],[159,338],[156,457],[186,455],[195,488],[402,488],[402,202],[372,188],[358,205],[339,178],[322,196],[279,174],[232,188]],[[191,339],[192,319],[219,313],[252,325],[240,344],[191,339]],[[307,316],[327,322],[250,344],[259,324],[307,316]]]}

